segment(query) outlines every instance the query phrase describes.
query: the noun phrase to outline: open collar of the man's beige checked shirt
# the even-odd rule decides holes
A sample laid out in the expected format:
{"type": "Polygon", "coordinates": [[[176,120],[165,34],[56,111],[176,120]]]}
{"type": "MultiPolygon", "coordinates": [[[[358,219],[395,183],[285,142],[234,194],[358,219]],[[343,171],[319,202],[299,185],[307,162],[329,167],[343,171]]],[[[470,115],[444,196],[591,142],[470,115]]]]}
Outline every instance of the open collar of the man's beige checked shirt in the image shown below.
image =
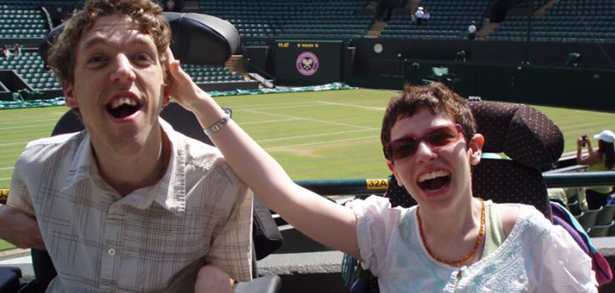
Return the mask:
{"type": "MultiPolygon", "coordinates": [[[[126,197],[120,199],[120,201],[126,201],[129,205],[134,205],[135,208],[145,209],[148,208],[153,201],[156,201],[160,206],[168,210],[169,212],[182,217],[186,209],[186,154],[185,149],[180,148],[183,145],[181,142],[182,137],[172,128],[167,121],[162,118],[158,118],[160,121],[160,127],[171,144],[171,153],[169,158],[169,165],[160,181],[154,186],[144,187],[137,189],[133,193],[130,193],[126,197]],[[138,194],[134,194],[138,193],[138,194]],[[139,196],[139,200],[136,198],[130,198],[131,195],[139,196]]],[[[108,186],[100,175],[98,174],[98,167],[94,160],[94,154],[90,142],[90,136],[87,131],[81,131],[78,136],[82,136],[81,142],[77,146],[76,153],[71,161],[71,168],[69,174],[66,177],[66,183],[62,191],[70,189],[79,181],[88,179],[94,181],[95,184],[101,186],[108,186]],[[97,182],[99,181],[100,182],[97,182]],[[102,183],[102,184],[98,184],[102,183]]]]}

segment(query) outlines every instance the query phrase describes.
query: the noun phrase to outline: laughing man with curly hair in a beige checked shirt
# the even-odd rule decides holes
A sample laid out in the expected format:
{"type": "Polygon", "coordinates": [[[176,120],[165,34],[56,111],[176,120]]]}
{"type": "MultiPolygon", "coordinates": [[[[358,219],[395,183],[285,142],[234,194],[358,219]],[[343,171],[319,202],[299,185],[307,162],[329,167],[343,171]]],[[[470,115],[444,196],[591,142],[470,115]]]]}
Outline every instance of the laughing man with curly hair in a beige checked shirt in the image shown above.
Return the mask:
{"type": "Polygon", "coordinates": [[[29,143],[0,207],[21,221],[0,237],[49,252],[47,292],[192,292],[197,277],[197,291],[231,292],[251,278],[252,191],[159,117],[180,93],[169,42],[153,2],[91,0],[49,52],[86,130],[29,143]]]}

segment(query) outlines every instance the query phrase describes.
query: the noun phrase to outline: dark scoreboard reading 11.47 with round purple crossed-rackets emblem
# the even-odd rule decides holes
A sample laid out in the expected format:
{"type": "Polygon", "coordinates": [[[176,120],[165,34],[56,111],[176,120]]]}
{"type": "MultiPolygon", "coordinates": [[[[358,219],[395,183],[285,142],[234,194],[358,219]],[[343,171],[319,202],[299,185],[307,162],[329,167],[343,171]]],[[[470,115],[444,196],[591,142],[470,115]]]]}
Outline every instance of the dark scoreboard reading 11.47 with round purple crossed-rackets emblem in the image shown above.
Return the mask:
{"type": "Polygon", "coordinates": [[[277,83],[322,85],[341,81],[342,47],[339,40],[276,40],[277,83]]]}

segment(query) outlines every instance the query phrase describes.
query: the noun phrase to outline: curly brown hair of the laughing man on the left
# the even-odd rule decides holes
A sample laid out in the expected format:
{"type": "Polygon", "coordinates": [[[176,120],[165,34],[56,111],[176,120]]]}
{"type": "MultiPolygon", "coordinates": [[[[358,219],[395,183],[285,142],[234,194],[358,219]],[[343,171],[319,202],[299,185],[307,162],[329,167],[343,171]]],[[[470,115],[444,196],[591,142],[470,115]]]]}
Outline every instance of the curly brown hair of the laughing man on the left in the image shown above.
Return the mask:
{"type": "Polygon", "coordinates": [[[162,8],[150,0],[88,0],[86,6],[66,20],[64,31],[49,49],[49,66],[60,83],[74,81],[76,48],[81,35],[92,28],[102,16],[129,16],[139,25],[139,31],[151,35],[158,49],[158,60],[167,76],[165,50],[171,40],[171,30],[162,8]]]}

